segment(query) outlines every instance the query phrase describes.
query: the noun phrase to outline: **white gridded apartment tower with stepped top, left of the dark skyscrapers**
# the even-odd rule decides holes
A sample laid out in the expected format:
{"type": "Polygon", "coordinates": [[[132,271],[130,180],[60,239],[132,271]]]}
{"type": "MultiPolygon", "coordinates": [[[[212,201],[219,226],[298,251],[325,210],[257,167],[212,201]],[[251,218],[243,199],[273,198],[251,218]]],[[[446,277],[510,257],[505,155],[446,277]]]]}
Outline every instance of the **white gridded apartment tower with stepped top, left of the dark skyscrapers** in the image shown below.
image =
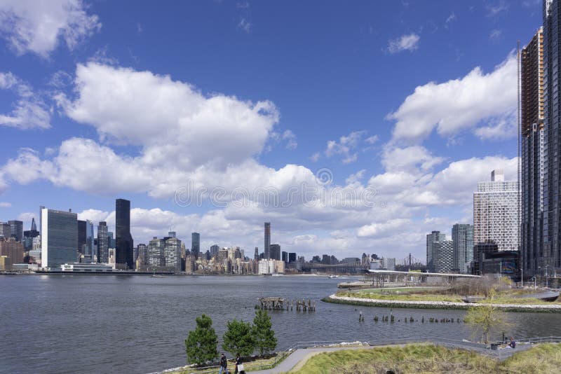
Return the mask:
{"type": "Polygon", "coordinates": [[[473,193],[473,240],[493,240],[499,251],[518,251],[520,219],[518,181],[505,181],[501,169],[493,170],[491,181],[479,182],[473,193]]]}

